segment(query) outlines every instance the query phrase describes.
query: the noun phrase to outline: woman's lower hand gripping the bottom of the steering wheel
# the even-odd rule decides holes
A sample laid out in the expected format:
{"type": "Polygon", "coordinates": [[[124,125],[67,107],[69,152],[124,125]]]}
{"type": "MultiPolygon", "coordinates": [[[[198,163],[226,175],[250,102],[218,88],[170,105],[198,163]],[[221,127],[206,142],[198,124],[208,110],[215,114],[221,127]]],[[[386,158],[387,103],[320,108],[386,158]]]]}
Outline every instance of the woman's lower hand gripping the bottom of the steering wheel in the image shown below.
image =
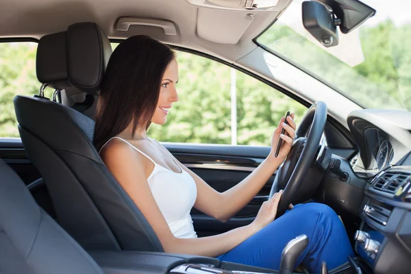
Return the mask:
{"type": "Polygon", "coordinates": [[[277,206],[279,199],[281,199],[282,192],[283,190],[279,190],[279,192],[276,192],[271,199],[262,203],[256,219],[254,219],[253,223],[251,223],[251,226],[253,226],[254,229],[259,231],[274,221],[275,215],[277,215],[277,206]]]}

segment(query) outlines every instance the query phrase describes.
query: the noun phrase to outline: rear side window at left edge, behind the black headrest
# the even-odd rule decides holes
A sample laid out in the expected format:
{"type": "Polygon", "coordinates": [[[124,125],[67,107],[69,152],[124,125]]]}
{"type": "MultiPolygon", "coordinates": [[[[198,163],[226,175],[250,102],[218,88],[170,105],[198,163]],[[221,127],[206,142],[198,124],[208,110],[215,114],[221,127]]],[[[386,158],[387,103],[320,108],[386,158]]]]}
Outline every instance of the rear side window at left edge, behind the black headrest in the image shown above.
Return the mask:
{"type": "Polygon", "coordinates": [[[38,94],[36,42],[0,42],[0,137],[18,137],[13,99],[38,94]]]}

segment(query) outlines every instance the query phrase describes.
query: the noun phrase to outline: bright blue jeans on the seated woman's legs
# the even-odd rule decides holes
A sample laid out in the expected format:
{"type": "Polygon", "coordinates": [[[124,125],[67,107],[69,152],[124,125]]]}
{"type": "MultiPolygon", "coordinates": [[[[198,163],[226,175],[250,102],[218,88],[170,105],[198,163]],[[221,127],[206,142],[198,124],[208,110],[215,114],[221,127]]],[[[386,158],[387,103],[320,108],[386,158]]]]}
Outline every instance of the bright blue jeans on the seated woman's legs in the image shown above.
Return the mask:
{"type": "Polygon", "coordinates": [[[347,232],[337,214],[323,203],[306,203],[295,206],[240,245],[217,257],[226,262],[236,262],[266,269],[279,269],[281,253],[288,241],[301,234],[308,236],[308,247],[297,260],[308,271],[321,272],[321,263],[334,269],[353,255],[347,232]]]}

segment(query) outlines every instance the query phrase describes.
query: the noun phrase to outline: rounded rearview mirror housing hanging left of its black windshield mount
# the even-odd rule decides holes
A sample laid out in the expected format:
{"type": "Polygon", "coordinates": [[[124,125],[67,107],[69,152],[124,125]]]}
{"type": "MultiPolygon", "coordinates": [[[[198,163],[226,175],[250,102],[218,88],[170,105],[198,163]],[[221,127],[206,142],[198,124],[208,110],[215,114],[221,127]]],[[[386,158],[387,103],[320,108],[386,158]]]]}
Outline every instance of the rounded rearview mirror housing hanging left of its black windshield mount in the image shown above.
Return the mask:
{"type": "Polygon", "coordinates": [[[308,32],[324,47],[338,45],[338,32],[332,12],[316,1],[304,1],[302,8],[303,25],[308,32]]]}

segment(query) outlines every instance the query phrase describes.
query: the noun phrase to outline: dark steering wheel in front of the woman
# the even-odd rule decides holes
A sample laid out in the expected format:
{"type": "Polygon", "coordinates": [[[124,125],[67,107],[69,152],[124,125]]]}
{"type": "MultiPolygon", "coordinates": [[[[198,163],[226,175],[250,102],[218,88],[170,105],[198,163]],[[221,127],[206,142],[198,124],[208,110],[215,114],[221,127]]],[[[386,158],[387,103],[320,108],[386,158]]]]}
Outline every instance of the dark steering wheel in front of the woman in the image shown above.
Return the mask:
{"type": "Polygon", "coordinates": [[[286,212],[290,203],[310,199],[318,188],[331,158],[322,139],[326,121],[327,105],[322,101],[312,104],[303,117],[296,139],[271,187],[269,199],[278,190],[284,190],[276,218],[286,212]]]}

